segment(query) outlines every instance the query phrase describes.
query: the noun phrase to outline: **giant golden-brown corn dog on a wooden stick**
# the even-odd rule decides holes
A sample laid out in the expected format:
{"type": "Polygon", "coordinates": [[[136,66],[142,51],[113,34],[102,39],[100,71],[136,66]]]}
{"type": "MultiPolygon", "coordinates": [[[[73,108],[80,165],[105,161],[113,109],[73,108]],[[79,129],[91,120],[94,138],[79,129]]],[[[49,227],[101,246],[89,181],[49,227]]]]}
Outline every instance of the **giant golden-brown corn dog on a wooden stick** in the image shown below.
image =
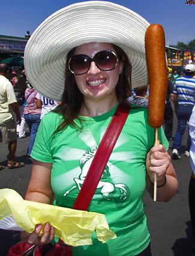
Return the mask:
{"type": "MultiPolygon", "coordinates": [[[[163,124],[167,93],[167,65],[164,30],[152,24],[145,34],[146,63],[149,77],[148,123],[155,128],[155,145],[158,128],[163,124]]],[[[154,173],[154,201],[157,200],[157,175],[154,173]]]]}

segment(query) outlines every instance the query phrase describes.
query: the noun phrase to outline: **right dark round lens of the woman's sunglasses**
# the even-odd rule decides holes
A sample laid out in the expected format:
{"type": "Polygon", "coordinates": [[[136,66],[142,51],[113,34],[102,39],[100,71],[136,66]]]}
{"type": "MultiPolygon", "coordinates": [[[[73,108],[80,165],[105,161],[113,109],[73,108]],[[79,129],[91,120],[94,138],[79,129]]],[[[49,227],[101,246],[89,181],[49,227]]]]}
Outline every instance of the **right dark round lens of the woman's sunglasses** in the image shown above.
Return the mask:
{"type": "Polygon", "coordinates": [[[95,55],[94,61],[101,70],[109,71],[115,68],[117,58],[112,51],[101,51],[95,55]]]}

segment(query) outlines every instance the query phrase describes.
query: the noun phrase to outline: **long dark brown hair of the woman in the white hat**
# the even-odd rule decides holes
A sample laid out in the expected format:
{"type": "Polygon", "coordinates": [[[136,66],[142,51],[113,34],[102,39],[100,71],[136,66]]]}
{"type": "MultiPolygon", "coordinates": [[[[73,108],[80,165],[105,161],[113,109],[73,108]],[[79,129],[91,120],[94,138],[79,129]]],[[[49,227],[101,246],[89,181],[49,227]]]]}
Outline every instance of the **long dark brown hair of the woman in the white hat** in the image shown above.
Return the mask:
{"type": "MultiPolygon", "coordinates": [[[[113,48],[116,51],[119,61],[124,62],[122,72],[119,75],[119,80],[115,88],[116,96],[118,101],[121,103],[125,102],[128,96],[131,95],[131,64],[128,60],[127,54],[125,54],[125,52],[119,46],[113,45],[113,48]]],[[[71,49],[67,55],[62,103],[59,108],[53,110],[55,113],[61,114],[63,117],[62,122],[59,124],[55,133],[64,130],[67,125],[73,125],[75,128],[82,130],[82,118],[78,116],[78,113],[82,105],[85,105],[85,101],[82,93],[77,87],[73,73],[71,73],[68,69],[68,61],[74,55],[75,49],[76,48],[71,49]],[[80,126],[74,122],[74,119],[80,121],[80,126]]]]}

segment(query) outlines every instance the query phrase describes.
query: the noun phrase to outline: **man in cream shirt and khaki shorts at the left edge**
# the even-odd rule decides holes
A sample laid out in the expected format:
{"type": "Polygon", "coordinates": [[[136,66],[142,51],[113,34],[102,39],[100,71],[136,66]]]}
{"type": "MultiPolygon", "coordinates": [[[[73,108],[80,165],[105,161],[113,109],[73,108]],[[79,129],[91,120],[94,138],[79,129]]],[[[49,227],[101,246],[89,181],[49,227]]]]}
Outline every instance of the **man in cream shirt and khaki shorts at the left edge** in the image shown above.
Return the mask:
{"type": "MultiPolygon", "coordinates": [[[[21,122],[17,100],[14,89],[7,79],[8,65],[0,63],[0,141],[8,143],[8,168],[18,168],[25,166],[22,162],[15,161],[17,148],[16,120],[21,122]]],[[[4,166],[0,166],[4,169],[4,166]]]]}

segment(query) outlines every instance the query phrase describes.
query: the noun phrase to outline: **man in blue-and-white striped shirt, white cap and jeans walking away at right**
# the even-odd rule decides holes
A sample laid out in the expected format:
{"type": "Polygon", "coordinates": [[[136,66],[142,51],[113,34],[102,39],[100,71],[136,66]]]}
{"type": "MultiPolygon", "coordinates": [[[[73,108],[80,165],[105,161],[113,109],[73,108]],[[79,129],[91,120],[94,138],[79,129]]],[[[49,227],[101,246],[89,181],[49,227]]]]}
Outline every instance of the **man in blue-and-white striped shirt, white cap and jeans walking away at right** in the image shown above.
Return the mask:
{"type": "MultiPolygon", "coordinates": [[[[178,78],[175,81],[175,86],[173,87],[173,103],[175,114],[178,119],[178,127],[172,147],[172,158],[175,160],[180,159],[179,150],[181,147],[182,136],[195,103],[195,79],[193,78],[195,73],[194,64],[187,64],[184,72],[185,75],[178,78]]],[[[185,150],[185,156],[187,157],[190,157],[190,146],[191,139],[190,134],[188,134],[187,148],[185,150]]]]}

